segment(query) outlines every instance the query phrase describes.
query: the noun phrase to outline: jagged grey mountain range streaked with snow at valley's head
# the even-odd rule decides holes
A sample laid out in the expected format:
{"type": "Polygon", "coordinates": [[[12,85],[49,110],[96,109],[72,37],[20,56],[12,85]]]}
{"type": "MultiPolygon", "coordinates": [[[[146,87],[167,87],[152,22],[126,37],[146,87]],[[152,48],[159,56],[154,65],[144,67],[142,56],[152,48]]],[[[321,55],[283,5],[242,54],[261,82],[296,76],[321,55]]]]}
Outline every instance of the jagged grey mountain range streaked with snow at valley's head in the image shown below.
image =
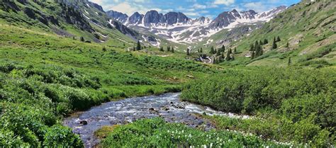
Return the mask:
{"type": "Polygon", "coordinates": [[[191,44],[200,42],[223,29],[265,23],[284,10],[286,6],[279,6],[262,13],[253,10],[238,12],[233,9],[233,11],[220,13],[213,20],[203,16],[193,19],[181,12],[163,14],[154,10],[147,11],[145,15],[135,12],[132,16],[128,16],[113,10],[107,11],[106,14],[113,20],[139,32],[153,33],[172,42],[191,44]]]}

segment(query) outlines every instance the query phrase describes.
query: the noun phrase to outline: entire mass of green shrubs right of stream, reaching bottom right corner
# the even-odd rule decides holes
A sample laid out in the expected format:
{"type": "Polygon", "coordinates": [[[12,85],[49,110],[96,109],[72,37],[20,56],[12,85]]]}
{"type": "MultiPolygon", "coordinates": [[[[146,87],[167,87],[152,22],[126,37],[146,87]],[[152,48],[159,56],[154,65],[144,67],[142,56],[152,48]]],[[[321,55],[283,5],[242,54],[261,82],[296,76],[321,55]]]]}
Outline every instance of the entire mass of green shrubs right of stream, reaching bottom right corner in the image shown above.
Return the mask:
{"type": "Polygon", "coordinates": [[[255,120],[218,120],[224,129],[327,147],[335,142],[335,81],[332,69],[233,71],[190,81],[181,98],[223,111],[264,114],[255,120]]]}

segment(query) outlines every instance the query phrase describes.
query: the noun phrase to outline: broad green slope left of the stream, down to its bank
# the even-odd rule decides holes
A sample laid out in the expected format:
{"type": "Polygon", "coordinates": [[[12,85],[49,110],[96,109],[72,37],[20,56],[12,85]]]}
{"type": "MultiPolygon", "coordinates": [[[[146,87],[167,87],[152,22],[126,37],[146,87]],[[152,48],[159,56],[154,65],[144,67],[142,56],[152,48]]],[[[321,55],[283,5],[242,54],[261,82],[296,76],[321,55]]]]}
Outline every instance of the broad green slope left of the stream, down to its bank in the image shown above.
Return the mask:
{"type": "Polygon", "coordinates": [[[180,91],[182,82],[218,72],[179,53],[128,52],[115,38],[81,42],[79,36],[94,34],[70,23],[45,25],[23,11],[0,16],[0,147],[83,147],[61,125],[64,116],[114,99],[180,91]]]}

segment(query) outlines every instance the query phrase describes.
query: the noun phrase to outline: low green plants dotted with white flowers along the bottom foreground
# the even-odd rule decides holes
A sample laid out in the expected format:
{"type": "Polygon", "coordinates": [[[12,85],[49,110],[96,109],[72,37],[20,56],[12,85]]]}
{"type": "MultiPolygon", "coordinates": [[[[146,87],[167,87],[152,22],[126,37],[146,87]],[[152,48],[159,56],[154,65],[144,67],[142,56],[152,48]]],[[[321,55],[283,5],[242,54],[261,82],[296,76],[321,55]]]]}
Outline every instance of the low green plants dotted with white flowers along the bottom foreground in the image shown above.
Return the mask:
{"type": "Polygon", "coordinates": [[[115,127],[102,147],[284,147],[238,132],[204,132],[186,125],[165,123],[161,118],[138,120],[115,127]]]}

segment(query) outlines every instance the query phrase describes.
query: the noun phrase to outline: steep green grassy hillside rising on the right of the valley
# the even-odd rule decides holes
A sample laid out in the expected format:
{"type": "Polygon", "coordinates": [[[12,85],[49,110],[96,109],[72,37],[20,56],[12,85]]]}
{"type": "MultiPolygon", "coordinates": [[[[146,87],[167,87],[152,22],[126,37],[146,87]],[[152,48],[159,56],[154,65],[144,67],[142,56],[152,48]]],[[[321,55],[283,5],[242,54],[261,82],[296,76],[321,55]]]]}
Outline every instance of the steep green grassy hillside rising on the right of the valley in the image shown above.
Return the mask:
{"type": "MultiPolygon", "coordinates": [[[[336,2],[335,1],[301,1],[289,7],[262,28],[255,30],[250,36],[233,42],[240,57],[245,57],[250,45],[255,41],[269,40],[262,45],[264,55],[253,60],[242,62],[250,66],[281,66],[285,67],[291,57],[293,64],[301,66],[330,66],[336,64],[336,2]],[[273,39],[277,48],[271,49],[273,39]],[[287,42],[289,47],[286,47],[287,42]]],[[[242,61],[248,59],[245,57],[242,61]]]]}

